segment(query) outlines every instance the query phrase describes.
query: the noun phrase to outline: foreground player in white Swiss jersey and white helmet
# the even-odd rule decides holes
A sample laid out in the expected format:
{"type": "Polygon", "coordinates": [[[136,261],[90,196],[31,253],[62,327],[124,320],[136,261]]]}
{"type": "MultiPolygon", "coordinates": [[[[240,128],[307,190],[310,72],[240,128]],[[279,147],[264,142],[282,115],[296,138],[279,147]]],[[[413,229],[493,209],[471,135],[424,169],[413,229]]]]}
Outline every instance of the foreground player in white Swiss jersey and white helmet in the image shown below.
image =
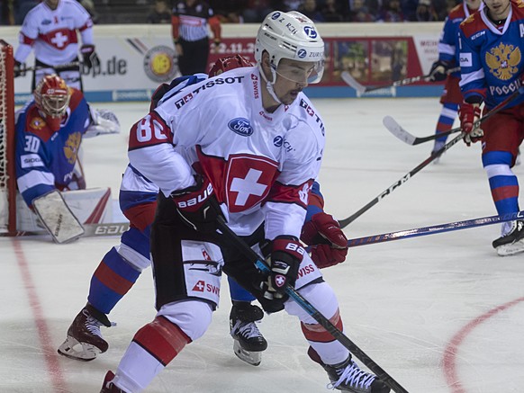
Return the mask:
{"type": "Polygon", "coordinates": [[[267,312],[298,317],[308,353],[333,388],[390,391],[284,290],[294,286],[343,329],[333,290],[298,241],[324,148],[321,116],[302,90],[321,80],[323,41],[303,14],[276,11],[262,23],[255,48],[257,67],[170,96],[131,127],[131,165],[160,189],[151,229],[158,313],[136,333],[116,373],[108,371],[102,392],[146,389],[205,333],[222,270],[267,312]],[[222,215],[267,256],[268,277],[217,231],[222,215]]]}

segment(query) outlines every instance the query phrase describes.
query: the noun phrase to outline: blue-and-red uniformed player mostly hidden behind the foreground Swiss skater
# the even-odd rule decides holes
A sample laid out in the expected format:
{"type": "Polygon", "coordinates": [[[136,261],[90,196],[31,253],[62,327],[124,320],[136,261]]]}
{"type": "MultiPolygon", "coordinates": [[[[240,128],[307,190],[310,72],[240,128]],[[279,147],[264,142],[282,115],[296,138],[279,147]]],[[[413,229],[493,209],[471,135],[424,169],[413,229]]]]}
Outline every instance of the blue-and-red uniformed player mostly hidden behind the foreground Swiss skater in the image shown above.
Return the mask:
{"type": "MultiPolygon", "coordinates": [[[[220,75],[238,67],[253,65],[239,55],[220,58],[210,70],[210,76],[220,75]]],[[[207,79],[203,74],[181,76],[171,84],[161,85],[151,98],[151,110],[182,89],[207,79]]],[[[121,244],[104,255],[97,266],[89,286],[87,304],[80,310],[68,328],[66,341],[59,353],[72,359],[92,361],[98,353],[107,351],[101,326],[112,326],[107,315],[138,280],[140,272],[149,267],[149,233],[157,206],[158,187],[149,182],[136,168],[128,165],[122,176],[119,201],[122,213],[130,220],[130,228],[121,237],[121,244]]],[[[301,240],[314,245],[312,260],[325,268],[345,260],[348,239],[339,223],[323,210],[324,201],[320,185],[313,183],[307,206],[307,215],[301,240]]],[[[232,307],[230,335],[234,339],[233,351],[244,362],[258,365],[267,341],[257,328],[263,317],[262,309],[251,304],[255,298],[239,284],[229,279],[232,307]]]]}

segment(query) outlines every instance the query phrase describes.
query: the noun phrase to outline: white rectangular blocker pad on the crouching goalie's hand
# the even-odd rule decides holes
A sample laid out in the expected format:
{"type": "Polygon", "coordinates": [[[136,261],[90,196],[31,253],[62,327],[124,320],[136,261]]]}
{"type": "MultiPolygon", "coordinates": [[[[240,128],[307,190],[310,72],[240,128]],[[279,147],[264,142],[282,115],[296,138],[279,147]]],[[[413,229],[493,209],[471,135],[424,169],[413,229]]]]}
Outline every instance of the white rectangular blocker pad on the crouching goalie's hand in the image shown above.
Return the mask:
{"type": "Polygon", "coordinates": [[[34,211],[56,243],[68,243],[84,235],[84,228],[64,201],[54,190],[32,201],[34,211]]]}

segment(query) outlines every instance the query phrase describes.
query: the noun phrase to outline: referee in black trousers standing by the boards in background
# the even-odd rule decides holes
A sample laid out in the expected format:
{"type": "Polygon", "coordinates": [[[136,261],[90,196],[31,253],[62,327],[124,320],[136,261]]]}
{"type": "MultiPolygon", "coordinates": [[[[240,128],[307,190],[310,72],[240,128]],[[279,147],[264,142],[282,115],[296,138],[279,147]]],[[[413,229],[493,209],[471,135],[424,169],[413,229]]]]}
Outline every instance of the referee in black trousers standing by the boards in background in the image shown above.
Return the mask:
{"type": "Polygon", "coordinates": [[[178,54],[178,67],[182,75],[207,74],[208,24],[214,36],[214,43],[220,44],[221,23],[209,4],[201,0],[175,2],[171,25],[178,54]]]}

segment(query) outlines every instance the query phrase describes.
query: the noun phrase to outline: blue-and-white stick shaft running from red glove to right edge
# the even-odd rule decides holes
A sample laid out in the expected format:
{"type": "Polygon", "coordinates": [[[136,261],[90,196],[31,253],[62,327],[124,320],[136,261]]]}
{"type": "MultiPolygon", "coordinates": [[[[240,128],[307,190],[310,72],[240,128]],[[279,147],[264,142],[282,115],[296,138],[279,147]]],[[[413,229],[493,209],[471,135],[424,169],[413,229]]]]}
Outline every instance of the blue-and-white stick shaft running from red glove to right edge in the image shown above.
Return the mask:
{"type": "MultiPolygon", "coordinates": [[[[366,246],[373,245],[375,243],[407,239],[410,237],[435,235],[452,230],[477,228],[483,227],[485,225],[497,224],[500,222],[515,221],[516,219],[524,219],[524,210],[517,213],[502,214],[501,216],[482,217],[480,219],[465,219],[464,221],[449,222],[447,224],[438,224],[431,227],[399,230],[396,232],[383,233],[381,235],[373,235],[370,237],[357,237],[355,239],[348,240],[348,247],[366,246]]],[[[308,251],[310,250],[308,249],[308,251]]]]}

